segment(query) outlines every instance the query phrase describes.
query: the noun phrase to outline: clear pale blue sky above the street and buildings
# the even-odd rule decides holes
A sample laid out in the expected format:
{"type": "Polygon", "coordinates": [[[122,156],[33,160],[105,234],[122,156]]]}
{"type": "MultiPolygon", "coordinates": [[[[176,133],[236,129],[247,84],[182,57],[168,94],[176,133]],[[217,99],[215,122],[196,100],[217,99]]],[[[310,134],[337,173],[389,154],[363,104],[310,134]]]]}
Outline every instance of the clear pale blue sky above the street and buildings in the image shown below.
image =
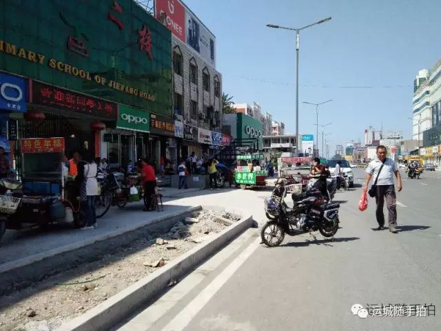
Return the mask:
{"type": "MultiPolygon", "coordinates": [[[[257,101],[295,132],[294,33],[300,32],[299,132],[332,122],[331,148],[369,125],[411,137],[413,80],[441,57],[439,0],[185,0],[216,36],[216,68],[235,102],[257,101]],[[351,88],[344,88],[351,87],[351,88]],[[369,87],[369,88],[359,88],[369,87]]],[[[320,129],[321,130],[321,129],[320,129]]],[[[319,131],[320,131],[319,130],[319,131]]],[[[320,132],[319,132],[320,134],[320,132]]],[[[321,149],[321,134],[319,140],[321,149]]]]}

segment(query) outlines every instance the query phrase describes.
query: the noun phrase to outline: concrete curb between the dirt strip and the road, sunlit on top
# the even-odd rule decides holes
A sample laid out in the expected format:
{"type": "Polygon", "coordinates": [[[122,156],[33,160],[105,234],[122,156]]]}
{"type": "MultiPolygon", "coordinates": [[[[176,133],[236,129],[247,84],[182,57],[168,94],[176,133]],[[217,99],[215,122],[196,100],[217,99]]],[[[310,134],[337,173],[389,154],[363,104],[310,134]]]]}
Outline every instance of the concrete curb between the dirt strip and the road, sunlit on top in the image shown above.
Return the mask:
{"type": "Polygon", "coordinates": [[[141,279],[115,294],[113,297],[92,308],[85,314],[60,326],[59,331],[109,330],[113,325],[133,314],[143,303],[161,294],[170,279],[178,279],[202,263],[209,256],[225,247],[253,225],[253,217],[245,216],[240,221],[216,234],[212,240],[196,246],[160,270],[141,279]]]}

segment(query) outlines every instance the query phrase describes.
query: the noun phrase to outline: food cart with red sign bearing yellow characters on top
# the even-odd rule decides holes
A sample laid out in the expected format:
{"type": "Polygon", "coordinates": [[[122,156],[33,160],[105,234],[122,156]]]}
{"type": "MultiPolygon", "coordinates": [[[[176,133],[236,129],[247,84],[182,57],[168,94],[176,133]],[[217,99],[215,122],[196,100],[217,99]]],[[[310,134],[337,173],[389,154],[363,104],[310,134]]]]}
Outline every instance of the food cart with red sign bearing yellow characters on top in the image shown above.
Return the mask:
{"type": "Polygon", "coordinates": [[[65,182],[63,177],[64,139],[21,139],[20,148],[21,204],[6,228],[19,230],[60,222],[84,226],[75,183],[65,182]]]}

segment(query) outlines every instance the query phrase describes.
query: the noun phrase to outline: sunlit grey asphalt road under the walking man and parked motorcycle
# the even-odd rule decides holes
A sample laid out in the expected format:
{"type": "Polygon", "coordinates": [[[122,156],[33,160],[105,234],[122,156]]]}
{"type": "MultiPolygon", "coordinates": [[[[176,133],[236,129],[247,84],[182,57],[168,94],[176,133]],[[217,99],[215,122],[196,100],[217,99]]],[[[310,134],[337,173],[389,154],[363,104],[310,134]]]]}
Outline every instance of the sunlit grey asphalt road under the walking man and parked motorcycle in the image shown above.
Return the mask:
{"type": "MultiPolygon", "coordinates": [[[[336,194],[342,228],[334,241],[304,234],[267,248],[255,232],[240,248],[213,257],[222,261],[203,270],[205,281],[189,285],[185,279],[167,294],[179,299],[159,299],[119,325],[121,330],[441,330],[441,172],[424,172],[419,180],[404,177],[398,234],[371,230],[377,226],[375,201],[369,199],[365,212],[358,210],[364,172],[355,169],[354,175],[356,188],[336,194]],[[391,316],[362,319],[351,312],[354,304],[391,305],[391,316]],[[420,310],[424,304],[429,308],[420,310]],[[400,305],[407,308],[399,310],[400,305]],[[432,316],[407,316],[409,308],[432,316]],[[150,323],[143,324],[149,312],[150,323]]],[[[267,195],[232,190],[210,200],[252,210],[262,223],[267,195]]],[[[196,274],[187,279],[192,277],[196,274]]]]}

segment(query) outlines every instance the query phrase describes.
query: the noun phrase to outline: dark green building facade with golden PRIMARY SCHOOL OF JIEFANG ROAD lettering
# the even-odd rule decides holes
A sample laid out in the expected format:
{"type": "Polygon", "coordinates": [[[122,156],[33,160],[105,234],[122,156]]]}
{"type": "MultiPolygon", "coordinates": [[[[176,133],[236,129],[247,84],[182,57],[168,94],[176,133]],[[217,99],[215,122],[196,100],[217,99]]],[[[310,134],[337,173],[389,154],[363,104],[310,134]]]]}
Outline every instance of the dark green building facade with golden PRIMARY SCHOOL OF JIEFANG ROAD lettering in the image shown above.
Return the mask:
{"type": "Polygon", "coordinates": [[[135,1],[1,1],[0,13],[0,71],[25,80],[27,110],[0,107],[17,154],[17,139],[63,137],[68,157],[124,167],[152,154],[152,124],[171,131],[151,121],[172,117],[171,34],[135,1]]]}

